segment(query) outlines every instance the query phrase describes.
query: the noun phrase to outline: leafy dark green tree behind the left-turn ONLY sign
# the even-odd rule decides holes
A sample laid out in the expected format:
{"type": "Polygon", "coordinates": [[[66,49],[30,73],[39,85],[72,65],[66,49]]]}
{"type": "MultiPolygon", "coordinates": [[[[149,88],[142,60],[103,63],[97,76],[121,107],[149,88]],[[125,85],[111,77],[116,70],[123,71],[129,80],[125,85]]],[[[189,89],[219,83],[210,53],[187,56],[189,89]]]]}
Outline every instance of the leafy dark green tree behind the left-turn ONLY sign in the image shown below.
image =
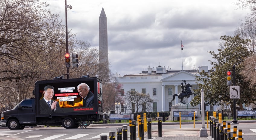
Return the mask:
{"type": "Polygon", "coordinates": [[[210,63],[214,70],[211,73],[202,71],[196,76],[199,89],[195,90],[195,93],[199,96],[194,97],[191,104],[198,105],[201,102],[200,90],[203,88],[206,105],[220,105],[223,102],[232,105],[233,100],[229,99],[230,92],[226,82],[226,72],[233,70],[233,65],[235,65],[235,85],[240,86],[241,94],[241,98],[236,100],[236,103],[242,109],[243,103],[255,100],[252,98],[255,97],[255,89],[250,88],[241,75],[241,71],[244,69],[243,62],[250,56],[250,52],[245,46],[249,40],[241,39],[238,35],[234,37],[222,36],[220,39],[223,40],[223,43],[220,43],[218,53],[208,52],[213,55],[214,60],[210,63]]]}

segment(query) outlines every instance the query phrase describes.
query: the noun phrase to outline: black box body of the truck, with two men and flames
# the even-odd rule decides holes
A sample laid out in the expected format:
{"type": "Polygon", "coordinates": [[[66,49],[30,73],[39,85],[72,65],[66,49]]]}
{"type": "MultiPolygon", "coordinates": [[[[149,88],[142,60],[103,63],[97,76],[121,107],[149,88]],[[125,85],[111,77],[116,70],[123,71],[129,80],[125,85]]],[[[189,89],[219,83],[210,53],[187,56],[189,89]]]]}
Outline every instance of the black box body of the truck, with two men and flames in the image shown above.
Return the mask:
{"type": "Polygon", "coordinates": [[[37,81],[39,115],[102,110],[102,85],[97,78],[37,81]]]}

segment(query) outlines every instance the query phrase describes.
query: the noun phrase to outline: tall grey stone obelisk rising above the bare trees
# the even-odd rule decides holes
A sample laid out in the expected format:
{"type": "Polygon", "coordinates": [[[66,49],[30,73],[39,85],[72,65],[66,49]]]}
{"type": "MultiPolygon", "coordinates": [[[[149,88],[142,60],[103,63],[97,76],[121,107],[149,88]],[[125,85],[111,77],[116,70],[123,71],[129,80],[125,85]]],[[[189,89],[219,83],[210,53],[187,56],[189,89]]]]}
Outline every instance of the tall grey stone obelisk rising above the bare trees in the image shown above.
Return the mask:
{"type": "Polygon", "coordinates": [[[99,63],[108,67],[107,16],[102,7],[99,19],[99,63]]]}

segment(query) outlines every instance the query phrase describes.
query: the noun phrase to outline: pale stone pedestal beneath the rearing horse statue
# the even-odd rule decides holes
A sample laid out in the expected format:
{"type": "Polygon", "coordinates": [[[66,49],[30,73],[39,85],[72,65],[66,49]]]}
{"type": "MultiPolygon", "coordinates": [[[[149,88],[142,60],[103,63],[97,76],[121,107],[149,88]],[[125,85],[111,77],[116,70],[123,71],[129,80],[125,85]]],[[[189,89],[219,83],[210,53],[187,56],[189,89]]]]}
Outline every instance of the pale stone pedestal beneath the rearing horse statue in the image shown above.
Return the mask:
{"type": "Polygon", "coordinates": [[[182,112],[181,113],[182,114],[181,115],[181,120],[182,119],[184,119],[184,120],[193,120],[194,111],[196,112],[197,118],[200,119],[201,114],[200,114],[199,106],[191,106],[189,103],[186,103],[186,104],[178,103],[176,105],[171,106],[171,112],[170,112],[169,120],[170,121],[178,121],[179,118],[178,118],[177,115],[179,115],[179,112],[182,112]]]}

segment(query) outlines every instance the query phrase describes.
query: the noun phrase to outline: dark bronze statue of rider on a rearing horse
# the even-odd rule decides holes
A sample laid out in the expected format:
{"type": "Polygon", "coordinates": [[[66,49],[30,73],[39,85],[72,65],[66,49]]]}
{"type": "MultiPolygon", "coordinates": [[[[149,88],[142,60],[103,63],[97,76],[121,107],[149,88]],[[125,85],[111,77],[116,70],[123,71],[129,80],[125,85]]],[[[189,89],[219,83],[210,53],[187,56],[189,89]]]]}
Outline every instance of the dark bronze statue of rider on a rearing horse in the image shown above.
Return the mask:
{"type": "MultiPolygon", "coordinates": [[[[192,91],[190,90],[190,88],[192,87],[192,85],[190,85],[189,83],[186,84],[186,81],[185,80],[182,80],[185,85],[183,85],[183,82],[181,83],[181,93],[179,93],[178,95],[177,94],[174,94],[173,97],[172,97],[172,101],[174,101],[175,97],[178,96],[179,99],[181,99],[181,103],[184,103],[183,102],[183,99],[184,97],[190,97],[190,95],[193,95],[194,93],[192,93],[192,91]],[[185,89],[184,89],[185,87],[185,89]]],[[[196,94],[194,94],[194,96],[197,96],[196,94]]],[[[184,103],[185,104],[185,103],[184,103]]]]}

